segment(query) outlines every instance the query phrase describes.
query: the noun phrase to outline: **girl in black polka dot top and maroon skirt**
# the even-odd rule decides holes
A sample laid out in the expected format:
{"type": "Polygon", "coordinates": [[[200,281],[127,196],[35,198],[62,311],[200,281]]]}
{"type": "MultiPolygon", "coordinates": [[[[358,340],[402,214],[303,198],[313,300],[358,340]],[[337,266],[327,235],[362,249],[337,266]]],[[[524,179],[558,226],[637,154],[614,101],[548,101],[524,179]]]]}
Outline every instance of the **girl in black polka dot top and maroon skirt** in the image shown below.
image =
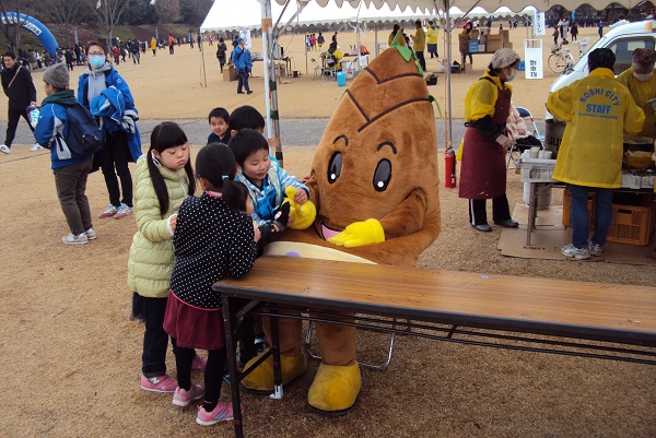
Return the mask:
{"type": "Polygon", "coordinates": [[[257,253],[253,204],[246,187],[234,181],[235,158],[222,143],[210,143],[196,157],[203,193],[180,205],[173,244],[175,264],[164,329],[171,335],[178,388],[173,404],[187,406],[203,398],[196,422],[211,426],[233,418],[230,401],[219,401],[226,357],[221,297],[212,285],[226,275],[248,273],[257,253]],[[191,383],[194,348],[208,350],[204,389],[191,383]]]}

